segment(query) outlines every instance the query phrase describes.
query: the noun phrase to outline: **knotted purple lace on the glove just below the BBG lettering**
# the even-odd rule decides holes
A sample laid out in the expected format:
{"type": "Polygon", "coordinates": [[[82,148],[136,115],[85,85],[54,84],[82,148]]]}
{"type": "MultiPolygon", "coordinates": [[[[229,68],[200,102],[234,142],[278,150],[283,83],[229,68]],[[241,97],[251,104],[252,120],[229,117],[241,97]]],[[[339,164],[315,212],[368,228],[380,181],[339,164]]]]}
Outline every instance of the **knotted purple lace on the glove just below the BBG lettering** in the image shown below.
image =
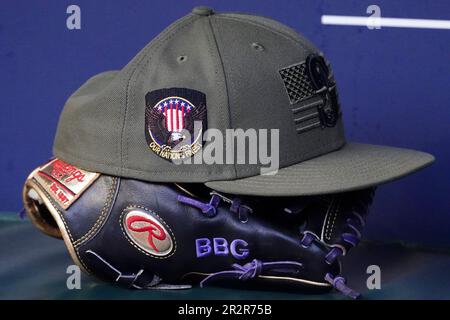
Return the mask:
{"type": "Polygon", "coordinates": [[[207,281],[213,278],[237,278],[239,280],[249,280],[259,276],[263,271],[279,271],[279,272],[293,272],[299,271],[303,265],[296,261],[273,261],[273,262],[262,262],[260,260],[254,259],[244,265],[233,264],[234,270],[219,271],[210,274],[205,279],[200,282],[200,287],[203,288],[207,281]]]}

